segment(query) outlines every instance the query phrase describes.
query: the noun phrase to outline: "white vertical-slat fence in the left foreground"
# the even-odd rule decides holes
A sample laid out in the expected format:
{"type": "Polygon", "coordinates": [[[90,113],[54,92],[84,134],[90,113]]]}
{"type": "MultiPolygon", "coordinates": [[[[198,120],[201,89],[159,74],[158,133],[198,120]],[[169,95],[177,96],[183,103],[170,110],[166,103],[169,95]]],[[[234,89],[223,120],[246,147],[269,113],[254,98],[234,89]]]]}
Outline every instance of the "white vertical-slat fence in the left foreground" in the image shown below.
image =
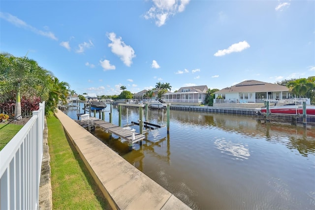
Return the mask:
{"type": "Polygon", "coordinates": [[[45,102],[0,151],[0,209],[38,209],[45,102]]]}

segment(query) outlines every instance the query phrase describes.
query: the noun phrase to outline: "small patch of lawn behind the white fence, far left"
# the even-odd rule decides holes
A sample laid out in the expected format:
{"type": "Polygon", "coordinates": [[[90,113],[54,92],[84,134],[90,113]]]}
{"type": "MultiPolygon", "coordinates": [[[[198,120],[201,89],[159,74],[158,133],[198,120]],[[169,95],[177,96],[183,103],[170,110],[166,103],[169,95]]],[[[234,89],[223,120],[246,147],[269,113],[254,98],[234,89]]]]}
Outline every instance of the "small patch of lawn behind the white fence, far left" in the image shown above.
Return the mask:
{"type": "Polygon", "coordinates": [[[21,130],[23,125],[0,124],[0,151],[21,130]]]}

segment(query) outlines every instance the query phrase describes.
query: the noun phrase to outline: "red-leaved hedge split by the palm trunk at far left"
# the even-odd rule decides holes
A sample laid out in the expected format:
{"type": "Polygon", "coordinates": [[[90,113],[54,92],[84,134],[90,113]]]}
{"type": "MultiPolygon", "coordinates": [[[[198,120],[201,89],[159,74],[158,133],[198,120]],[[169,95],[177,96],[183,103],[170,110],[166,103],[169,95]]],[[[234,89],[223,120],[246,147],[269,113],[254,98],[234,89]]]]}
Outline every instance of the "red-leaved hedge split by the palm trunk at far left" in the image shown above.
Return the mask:
{"type": "MultiPolygon", "coordinates": [[[[21,98],[21,111],[22,116],[32,116],[32,111],[38,110],[40,103],[39,97],[34,97],[32,99],[27,99],[26,97],[21,98]]],[[[15,111],[15,101],[8,100],[3,103],[0,103],[0,113],[6,114],[10,119],[14,118],[15,111]]]]}

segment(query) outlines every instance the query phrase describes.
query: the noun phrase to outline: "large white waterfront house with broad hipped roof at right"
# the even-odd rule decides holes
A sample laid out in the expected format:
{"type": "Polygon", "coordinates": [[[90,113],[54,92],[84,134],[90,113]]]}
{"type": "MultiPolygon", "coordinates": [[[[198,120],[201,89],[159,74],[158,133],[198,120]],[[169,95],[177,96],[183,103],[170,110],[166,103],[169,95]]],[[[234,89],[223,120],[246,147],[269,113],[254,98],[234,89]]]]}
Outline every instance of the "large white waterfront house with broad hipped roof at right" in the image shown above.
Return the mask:
{"type": "Polygon", "coordinates": [[[263,104],[266,99],[289,99],[289,89],[286,86],[246,80],[217,92],[213,106],[222,104],[263,104]]]}

